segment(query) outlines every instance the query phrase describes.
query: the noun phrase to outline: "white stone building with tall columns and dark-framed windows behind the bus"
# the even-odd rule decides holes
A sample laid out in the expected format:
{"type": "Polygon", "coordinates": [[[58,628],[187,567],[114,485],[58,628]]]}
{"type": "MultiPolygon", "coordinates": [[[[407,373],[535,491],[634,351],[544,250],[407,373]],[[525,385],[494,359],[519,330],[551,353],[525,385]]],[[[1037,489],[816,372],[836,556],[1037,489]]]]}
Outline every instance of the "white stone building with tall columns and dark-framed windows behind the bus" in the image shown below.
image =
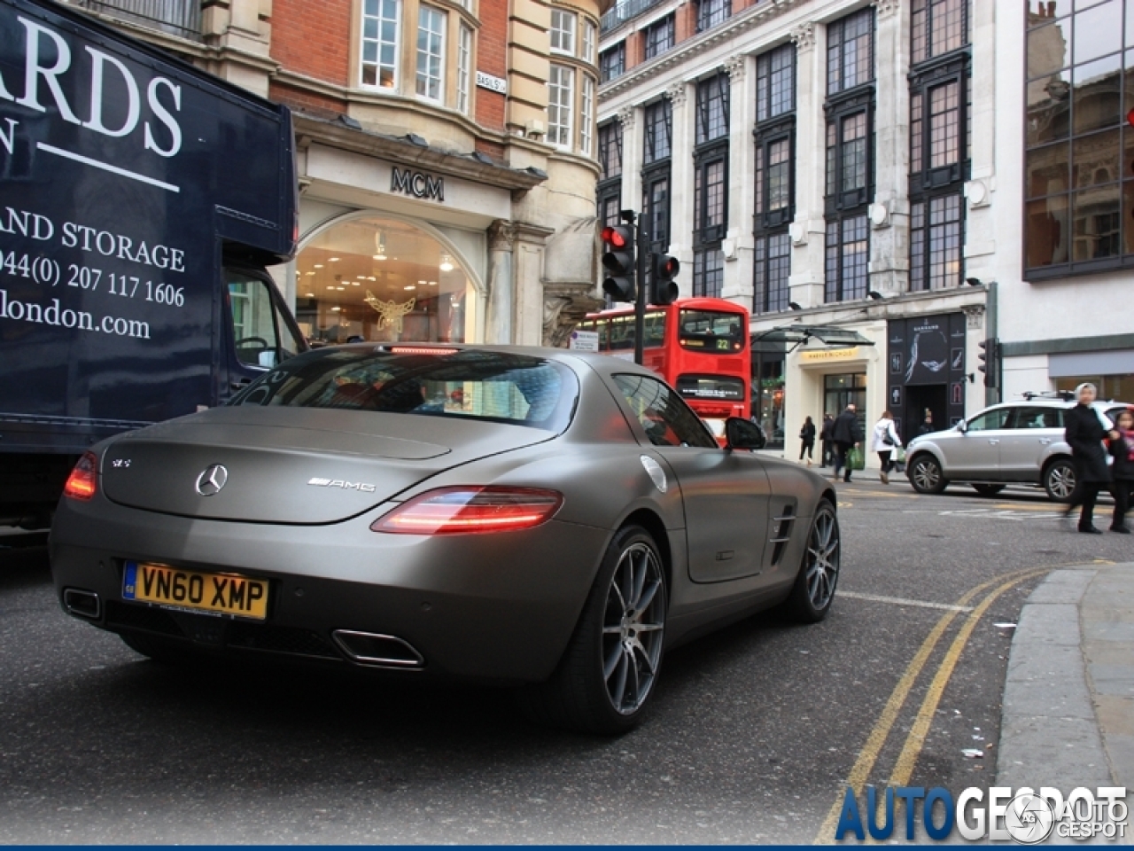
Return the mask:
{"type": "Polygon", "coordinates": [[[752,311],[753,410],[792,447],[847,402],[908,436],[989,398],[995,7],[624,0],[602,20],[599,217],[642,210],[683,295],[752,311]]]}

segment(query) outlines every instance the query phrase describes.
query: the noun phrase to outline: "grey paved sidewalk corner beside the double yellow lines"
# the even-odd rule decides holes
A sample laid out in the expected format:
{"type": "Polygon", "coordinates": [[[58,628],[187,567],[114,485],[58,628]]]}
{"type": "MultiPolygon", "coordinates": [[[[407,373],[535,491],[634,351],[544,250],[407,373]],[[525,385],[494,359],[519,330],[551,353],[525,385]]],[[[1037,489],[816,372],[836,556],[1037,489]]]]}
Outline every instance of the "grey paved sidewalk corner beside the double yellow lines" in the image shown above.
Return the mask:
{"type": "Polygon", "coordinates": [[[1134,787],[1134,563],[1053,571],[1027,598],[997,759],[998,786],[1134,787]]]}

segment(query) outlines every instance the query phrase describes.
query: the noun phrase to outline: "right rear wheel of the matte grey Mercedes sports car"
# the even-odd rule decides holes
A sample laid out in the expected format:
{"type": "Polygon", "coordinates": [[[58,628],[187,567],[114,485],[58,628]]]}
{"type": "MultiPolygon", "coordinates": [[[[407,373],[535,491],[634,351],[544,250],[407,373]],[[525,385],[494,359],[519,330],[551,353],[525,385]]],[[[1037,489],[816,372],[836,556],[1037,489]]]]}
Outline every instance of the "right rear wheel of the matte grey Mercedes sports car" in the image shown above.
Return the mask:
{"type": "Polygon", "coordinates": [[[556,673],[528,686],[521,705],[534,719],[617,735],[641,723],[661,671],[666,574],[653,538],[625,526],[611,539],[556,673]],[[649,626],[650,629],[641,629],[649,626]]]}

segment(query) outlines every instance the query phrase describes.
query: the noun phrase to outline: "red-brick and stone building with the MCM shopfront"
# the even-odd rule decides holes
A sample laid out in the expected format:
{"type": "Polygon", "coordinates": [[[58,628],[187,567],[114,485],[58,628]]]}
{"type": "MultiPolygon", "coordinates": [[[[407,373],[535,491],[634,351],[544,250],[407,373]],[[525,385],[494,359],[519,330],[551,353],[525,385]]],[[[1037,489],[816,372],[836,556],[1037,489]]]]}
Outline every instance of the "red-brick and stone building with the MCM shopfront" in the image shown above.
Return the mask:
{"type": "Polygon", "coordinates": [[[561,343],[593,297],[600,0],[73,0],[294,111],[319,343],[561,343]]]}

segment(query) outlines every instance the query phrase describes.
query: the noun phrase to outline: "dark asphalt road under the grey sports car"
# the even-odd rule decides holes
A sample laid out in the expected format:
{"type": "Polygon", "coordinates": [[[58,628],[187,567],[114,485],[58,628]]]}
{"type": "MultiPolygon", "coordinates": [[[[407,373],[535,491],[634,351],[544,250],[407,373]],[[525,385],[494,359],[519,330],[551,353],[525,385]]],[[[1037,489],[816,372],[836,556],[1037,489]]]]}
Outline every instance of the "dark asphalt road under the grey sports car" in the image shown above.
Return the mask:
{"type": "Polygon", "coordinates": [[[794,843],[830,835],[848,778],[988,785],[997,624],[1039,568],[1134,541],[1029,491],[839,503],[831,616],[670,654],[620,739],[533,726],[501,691],[163,667],[64,615],[42,547],[0,549],[0,842],[794,843]]]}

